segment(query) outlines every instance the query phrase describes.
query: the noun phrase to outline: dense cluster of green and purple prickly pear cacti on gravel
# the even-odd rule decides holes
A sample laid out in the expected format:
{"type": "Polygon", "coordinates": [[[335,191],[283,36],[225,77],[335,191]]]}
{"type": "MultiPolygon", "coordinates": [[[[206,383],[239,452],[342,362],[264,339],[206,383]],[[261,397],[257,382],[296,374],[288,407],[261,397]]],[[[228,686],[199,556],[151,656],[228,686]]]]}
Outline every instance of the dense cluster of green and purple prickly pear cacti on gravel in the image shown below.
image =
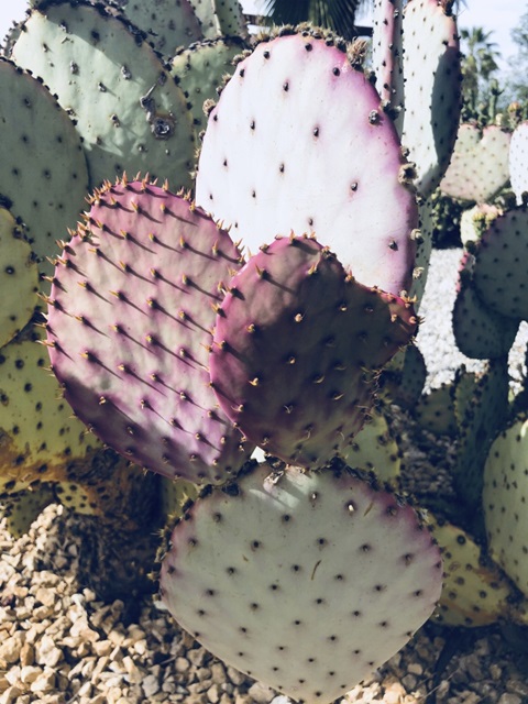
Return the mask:
{"type": "Polygon", "coordinates": [[[92,515],[124,588],[163,526],[178,623],[304,701],[437,603],[448,624],[528,618],[528,408],[505,361],[528,314],[526,124],[459,129],[451,2],[402,4],[376,3],[370,68],[308,25],[249,37],[227,0],[38,0],[0,59],[8,526],[55,501],[92,515]],[[491,217],[509,144],[518,205],[491,217]],[[422,396],[431,195],[470,162],[490,179],[454,193],[481,210],[453,326],[491,361],[422,396]],[[457,436],[455,506],[407,492],[391,403],[457,436]]]}

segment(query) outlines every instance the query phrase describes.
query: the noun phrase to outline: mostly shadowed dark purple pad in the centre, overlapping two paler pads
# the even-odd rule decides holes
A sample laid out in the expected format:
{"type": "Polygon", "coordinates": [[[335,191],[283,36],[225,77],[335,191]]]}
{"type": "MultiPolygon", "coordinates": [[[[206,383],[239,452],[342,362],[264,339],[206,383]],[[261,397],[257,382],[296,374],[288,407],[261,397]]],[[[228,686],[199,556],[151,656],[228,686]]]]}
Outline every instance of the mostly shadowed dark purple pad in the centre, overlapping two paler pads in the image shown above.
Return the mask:
{"type": "Polygon", "coordinates": [[[358,284],[308,238],[275,240],[230,286],[210,359],[220,405],[272,454],[326,463],[362,428],[372,372],[416,331],[413,307],[358,284]]]}

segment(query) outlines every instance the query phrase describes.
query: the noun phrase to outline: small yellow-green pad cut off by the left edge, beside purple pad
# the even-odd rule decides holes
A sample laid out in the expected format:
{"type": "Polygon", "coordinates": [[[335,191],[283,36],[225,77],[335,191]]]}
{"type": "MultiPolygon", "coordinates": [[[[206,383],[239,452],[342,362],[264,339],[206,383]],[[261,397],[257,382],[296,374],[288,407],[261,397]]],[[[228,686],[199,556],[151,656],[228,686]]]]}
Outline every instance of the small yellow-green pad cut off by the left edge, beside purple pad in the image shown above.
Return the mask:
{"type": "Polygon", "coordinates": [[[37,304],[38,271],[23,229],[0,207],[0,348],[29,322],[37,304]]]}

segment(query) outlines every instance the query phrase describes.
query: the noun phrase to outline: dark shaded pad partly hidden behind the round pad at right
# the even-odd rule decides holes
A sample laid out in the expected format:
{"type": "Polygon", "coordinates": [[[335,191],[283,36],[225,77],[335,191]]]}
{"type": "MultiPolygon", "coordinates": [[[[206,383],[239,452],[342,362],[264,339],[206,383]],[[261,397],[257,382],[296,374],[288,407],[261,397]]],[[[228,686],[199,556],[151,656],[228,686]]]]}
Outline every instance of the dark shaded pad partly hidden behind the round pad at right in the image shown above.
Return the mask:
{"type": "Polygon", "coordinates": [[[473,282],[474,257],[464,254],[453,307],[457,346],[468,358],[493,360],[507,355],[519,320],[501,315],[483,301],[473,282]]]}

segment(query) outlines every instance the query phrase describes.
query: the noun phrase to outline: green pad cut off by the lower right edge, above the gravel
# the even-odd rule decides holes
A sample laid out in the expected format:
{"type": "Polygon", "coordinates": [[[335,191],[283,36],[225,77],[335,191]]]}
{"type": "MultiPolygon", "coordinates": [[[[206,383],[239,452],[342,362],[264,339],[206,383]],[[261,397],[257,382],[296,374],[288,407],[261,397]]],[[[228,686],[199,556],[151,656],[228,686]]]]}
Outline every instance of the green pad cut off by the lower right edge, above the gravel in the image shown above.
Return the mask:
{"type": "Polygon", "coordinates": [[[483,506],[492,557],[528,597],[528,420],[494,441],[484,469],[483,506]]]}

